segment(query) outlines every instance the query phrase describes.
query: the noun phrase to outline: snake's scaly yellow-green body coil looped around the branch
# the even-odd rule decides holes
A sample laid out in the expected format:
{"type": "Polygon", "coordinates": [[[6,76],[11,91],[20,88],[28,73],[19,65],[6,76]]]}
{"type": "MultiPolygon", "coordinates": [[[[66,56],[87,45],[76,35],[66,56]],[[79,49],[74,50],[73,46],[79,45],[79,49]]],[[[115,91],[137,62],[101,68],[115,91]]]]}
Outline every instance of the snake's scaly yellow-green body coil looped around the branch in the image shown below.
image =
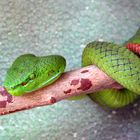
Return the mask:
{"type": "Polygon", "coordinates": [[[140,94],[140,60],[123,46],[94,41],[83,51],[82,66],[95,64],[125,89],[105,89],[89,94],[92,100],[110,108],[133,102],[140,94]]]}

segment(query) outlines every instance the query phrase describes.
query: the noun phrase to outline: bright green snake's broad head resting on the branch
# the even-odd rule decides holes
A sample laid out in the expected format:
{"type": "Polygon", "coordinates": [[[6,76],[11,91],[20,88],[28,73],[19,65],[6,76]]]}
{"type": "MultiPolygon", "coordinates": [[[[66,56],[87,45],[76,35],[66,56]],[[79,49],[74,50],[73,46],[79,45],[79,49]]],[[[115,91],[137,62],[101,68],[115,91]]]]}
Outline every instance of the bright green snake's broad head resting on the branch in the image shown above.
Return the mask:
{"type": "Polygon", "coordinates": [[[4,87],[14,96],[35,91],[57,80],[64,72],[65,65],[65,59],[59,55],[21,55],[8,69],[4,87]]]}

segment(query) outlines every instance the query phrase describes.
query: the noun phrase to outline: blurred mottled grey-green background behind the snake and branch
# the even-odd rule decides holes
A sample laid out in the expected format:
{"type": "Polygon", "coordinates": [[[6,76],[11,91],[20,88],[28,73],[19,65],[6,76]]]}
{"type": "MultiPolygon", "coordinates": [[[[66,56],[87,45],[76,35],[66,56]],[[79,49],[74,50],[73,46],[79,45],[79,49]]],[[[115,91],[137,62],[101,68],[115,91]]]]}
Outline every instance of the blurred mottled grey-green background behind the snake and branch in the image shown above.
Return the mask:
{"type": "MultiPolygon", "coordinates": [[[[0,85],[21,54],[60,54],[71,70],[88,42],[122,44],[138,27],[139,0],[0,0],[0,85]]],[[[140,101],[111,111],[86,98],[1,116],[0,140],[140,140],[140,101]]]]}

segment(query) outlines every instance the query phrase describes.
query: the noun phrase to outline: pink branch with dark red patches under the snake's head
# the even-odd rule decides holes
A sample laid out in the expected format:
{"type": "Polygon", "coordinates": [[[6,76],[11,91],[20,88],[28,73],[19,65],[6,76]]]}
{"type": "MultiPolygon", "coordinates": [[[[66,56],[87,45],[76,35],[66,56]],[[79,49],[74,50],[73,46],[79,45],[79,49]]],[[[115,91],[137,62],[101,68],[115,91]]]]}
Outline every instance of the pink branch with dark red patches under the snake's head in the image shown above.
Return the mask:
{"type": "Polygon", "coordinates": [[[0,115],[54,104],[74,95],[88,94],[105,88],[122,86],[96,66],[88,66],[64,73],[55,83],[24,96],[11,96],[0,88],[0,115]]]}

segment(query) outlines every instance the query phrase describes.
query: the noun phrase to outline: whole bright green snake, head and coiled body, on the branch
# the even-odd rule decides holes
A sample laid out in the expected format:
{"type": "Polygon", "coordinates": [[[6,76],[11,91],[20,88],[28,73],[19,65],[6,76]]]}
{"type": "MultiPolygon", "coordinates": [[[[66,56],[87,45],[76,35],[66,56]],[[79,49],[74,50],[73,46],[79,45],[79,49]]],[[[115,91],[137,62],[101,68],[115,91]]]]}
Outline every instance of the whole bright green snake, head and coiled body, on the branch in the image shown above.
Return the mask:
{"type": "MultiPolygon", "coordinates": [[[[140,29],[126,43],[129,42],[140,43],[140,29]]],[[[133,52],[114,43],[94,41],[84,48],[82,54],[83,67],[93,64],[120,83],[124,89],[90,93],[92,100],[110,108],[120,108],[138,97],[140,60],[133,52]]],[[[56,81],[64,72],[65,66],[65,58],[59,55],[21,55],[8,69],[4,87],[14,96],[30,93],[56,81]]]]}

